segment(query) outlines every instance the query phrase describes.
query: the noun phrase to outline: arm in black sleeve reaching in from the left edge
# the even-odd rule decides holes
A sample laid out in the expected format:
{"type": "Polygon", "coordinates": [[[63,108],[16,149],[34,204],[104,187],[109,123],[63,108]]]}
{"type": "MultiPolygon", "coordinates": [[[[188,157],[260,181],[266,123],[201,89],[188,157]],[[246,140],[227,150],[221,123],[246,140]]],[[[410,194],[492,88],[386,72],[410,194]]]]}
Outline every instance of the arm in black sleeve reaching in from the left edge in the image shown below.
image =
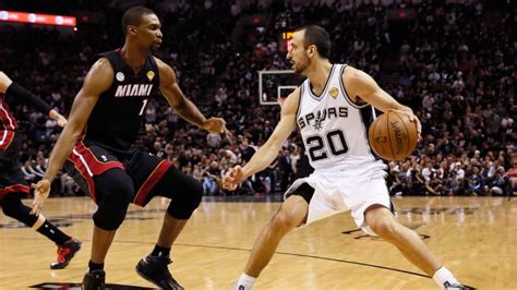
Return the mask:
{"type": "Polygon", "coordinates": [[[58,125],[64,126],[67,119],[61,116],[57,110],[52,109],[50,105],[45,102],[43,99],[27,90],[25,87],[14,83],[3,72],[0,72],[0,93],[5,94],[8,104],[11,101],[15,104],[23,104],[35,108],[36,110],[48,114],[51,119],[58,122],[58,125]]]}

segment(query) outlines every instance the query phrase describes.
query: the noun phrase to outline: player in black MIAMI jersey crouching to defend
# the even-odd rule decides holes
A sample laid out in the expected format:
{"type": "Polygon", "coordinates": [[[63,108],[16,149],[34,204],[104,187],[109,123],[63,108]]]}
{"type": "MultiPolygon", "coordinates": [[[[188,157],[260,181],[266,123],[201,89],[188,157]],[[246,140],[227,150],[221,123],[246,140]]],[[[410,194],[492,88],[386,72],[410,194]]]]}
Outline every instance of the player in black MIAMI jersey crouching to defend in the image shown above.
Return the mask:
{"type": "Polygon", "coordinates": [[[212,133],[227,132],[223,119],[205,117],[184,97],[175,71],[152,53],[163,34],[156,14],[141,7],[125,11],[121,49],[100,55],[75,97],[44,179],[35,185],[39,212],[51,181],[64,165],[98,205],[92,255],[83,288],[101,289],[104,262],[129,203],[145,206],[154,196],[172,200],[153,252],[136,265],[143,278],[165,289],[182,289],[172,278],[170,247],[199,206],[202,185],[169,161],[133,147],[147,99],[157,89],[187,121],[212,133]],[[67,165],[65,165],[67,162],[67,165]]]}

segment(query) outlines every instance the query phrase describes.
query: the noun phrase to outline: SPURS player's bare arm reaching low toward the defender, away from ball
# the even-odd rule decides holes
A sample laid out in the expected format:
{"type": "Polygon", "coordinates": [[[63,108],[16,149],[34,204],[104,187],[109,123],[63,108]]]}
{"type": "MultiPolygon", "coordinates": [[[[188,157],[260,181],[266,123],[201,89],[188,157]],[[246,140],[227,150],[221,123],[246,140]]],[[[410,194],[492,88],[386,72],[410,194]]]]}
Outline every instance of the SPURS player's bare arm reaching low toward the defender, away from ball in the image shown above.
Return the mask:
{"type": "Polygon", "coordinates": [[[294,89],[281,106],[280,121],[266,143],[258,148],[250,161],[244,166],[236,166],[223,179],[223,186],[235,190],[237,184],[264,170],[278,156],[278,150],[297,126],[297,110],[300,101],[300,88],[294,89]]]}

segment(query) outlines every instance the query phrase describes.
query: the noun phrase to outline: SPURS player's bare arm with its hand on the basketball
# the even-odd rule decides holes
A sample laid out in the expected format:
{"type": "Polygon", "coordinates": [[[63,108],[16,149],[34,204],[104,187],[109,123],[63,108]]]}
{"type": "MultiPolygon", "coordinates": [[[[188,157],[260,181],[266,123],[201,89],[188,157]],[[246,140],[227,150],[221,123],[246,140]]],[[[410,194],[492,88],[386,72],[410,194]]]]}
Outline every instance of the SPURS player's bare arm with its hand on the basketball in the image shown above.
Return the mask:
{"type": "Polygon", "coordinates": [[[413,114],[413,110],[407,106],[401,105],[392,96],[389,96],[389,94],[382,89],[373,80],[373,77],[368,73],[351,67],[347,67],[341,77],[345,88],[347,89],[347,94],[353,101],[366,101],[383,112],[388,110],[397,110],[409,114],[410,120],[417,122],[417,128],[420,135],[422,126],[418,118],[413,114]]]}

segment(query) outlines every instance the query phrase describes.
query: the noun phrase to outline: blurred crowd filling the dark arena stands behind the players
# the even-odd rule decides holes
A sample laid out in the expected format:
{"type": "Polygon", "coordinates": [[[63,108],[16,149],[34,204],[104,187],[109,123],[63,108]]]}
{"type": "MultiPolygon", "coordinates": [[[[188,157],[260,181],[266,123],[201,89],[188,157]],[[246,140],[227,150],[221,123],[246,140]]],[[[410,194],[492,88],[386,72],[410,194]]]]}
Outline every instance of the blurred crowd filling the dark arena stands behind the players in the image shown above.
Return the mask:
{"type": "MultiPolygon", "coordinates": [[[[11,10],[65,12],[11,2],[11,10]]],[[[269,168],[236,192],[220,188],[225,172],[248,161],[279,119],[279,106],[258,104],[257,71],[289,69],[279,34],[308,23],[329,32],[332,62],[370,73],[422,122],[417,150],[386,162],[392,194],[516,191],[517,11],[512,1],[79,2],[71,9],[100,13],[101,25],[84,23],[71,33],[2,26],[0,69],[67,114],[95,55],[122,45],[125,8],[153,9],[165,40],[156,56],[173,67],[182,90],[205,116],[225,118],[235,138],[185,123],[155,96],[136,146],[173,161],[203,183],[206,195],[281,194],[301,170],[304,150],[294,132],[269,168]],[[402,9],[416,12],[414,19],[386,21],[389,11],[402,9]]],[[[24,135],[22,170],[34,182],[60,129],[32,108],[11,109],[24,135]]],[[[63,173],[53,194],[82,193],[63,173]]]]}

